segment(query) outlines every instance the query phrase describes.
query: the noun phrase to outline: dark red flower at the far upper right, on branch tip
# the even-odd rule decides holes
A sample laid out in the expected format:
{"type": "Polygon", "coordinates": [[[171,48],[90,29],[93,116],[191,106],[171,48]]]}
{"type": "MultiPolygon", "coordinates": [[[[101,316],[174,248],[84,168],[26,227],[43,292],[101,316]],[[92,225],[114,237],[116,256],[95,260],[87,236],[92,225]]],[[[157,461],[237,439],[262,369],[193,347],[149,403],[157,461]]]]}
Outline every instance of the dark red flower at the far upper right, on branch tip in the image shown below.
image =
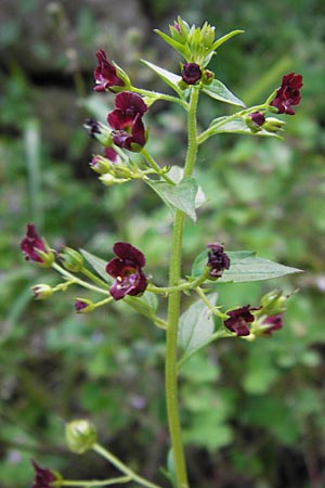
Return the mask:
{"type": "Polygon", "coordinates": [[[270,105],[275,106],[278,114],[295,115],[295,111],[291,105],[298,105],[300,102],[300,89],[302,85],[301,75],[295,75],[294,72],[285,75],[282,79],[282,85],[270,105]]]}

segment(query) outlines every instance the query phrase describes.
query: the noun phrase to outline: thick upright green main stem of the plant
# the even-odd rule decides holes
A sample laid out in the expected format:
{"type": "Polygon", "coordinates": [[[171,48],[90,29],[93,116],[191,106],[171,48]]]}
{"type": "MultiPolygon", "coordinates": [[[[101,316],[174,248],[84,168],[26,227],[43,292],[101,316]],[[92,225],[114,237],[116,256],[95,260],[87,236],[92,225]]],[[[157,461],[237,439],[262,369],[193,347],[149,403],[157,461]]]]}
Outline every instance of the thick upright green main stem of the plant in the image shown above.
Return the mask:
{"type": "MultiPolygon", "coordinates": [[[[188,118],[187,118],[187,154],[184,167],[184,176],[191,176],[197,153],[197,128],[196,128],[196,107],[198,101],[198,89],[192,87],[188,118]]],[[[177,286],[181,278],[182,262],[182,236],[184,226],[184,214],[176,210],[172,245],[169,267],[169,286],[177,286]]],[[[187,488],[187,473],[182,442],[179,401],[178,401],[178,329],[180,319],[181,292],[176,290],[168,297],[168,328],[166,336],[166,367],[165,367],[165,388],[168,425],[171,439],[172,455],[176,467],[177,488],[187,488]]]]}

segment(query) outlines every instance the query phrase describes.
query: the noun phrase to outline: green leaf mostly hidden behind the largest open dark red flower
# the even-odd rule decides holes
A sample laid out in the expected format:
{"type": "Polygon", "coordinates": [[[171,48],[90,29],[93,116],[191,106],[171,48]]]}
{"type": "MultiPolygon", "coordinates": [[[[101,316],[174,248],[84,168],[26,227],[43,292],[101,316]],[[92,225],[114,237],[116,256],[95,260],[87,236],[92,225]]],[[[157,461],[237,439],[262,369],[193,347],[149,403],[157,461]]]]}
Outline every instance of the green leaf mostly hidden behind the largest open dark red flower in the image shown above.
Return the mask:
{"type": "MultiPolygon", "coordinates": [[[[103,278],[109,285],[114,283],[114,279],[106,272],[107,261],[88,253],[88,251],[80,249],[84,259],[92,266],[96,273],[103,278]]],[[[158,298],[154,293],[145,292],[142,296],[126,296],[123,303],[143,316],[153,319],[156,316],[158,308],[158,298]]]]}

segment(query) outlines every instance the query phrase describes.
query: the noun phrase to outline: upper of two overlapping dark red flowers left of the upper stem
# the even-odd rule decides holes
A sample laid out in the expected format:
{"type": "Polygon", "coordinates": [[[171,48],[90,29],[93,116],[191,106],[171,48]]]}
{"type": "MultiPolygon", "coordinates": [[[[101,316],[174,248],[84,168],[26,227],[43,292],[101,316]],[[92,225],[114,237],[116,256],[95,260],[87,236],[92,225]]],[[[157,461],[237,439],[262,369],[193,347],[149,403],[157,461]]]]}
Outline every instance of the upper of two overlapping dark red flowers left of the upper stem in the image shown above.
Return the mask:
{"type": "Polygon", "coordinates": [[[115,98],[115,110],[107,115],[107,121],[115,130],[131,127],[136,115],[143,115],[147,106],[142,98],[131,91],[122,91],[115,98]]]}

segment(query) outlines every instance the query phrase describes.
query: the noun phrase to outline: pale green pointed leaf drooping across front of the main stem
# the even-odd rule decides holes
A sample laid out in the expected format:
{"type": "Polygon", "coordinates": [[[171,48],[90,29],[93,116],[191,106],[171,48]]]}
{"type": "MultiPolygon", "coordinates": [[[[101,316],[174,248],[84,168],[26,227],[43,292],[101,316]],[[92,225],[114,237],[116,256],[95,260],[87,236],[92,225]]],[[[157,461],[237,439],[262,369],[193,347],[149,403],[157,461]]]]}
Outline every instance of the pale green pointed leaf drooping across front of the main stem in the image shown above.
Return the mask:
{"type": "Polygon", "coordinates": [[[146,180],[146,183],[155,190],[172,213],[178,208],[196,222],[196,195],[198,184],[195,178],[185,177],[178,184],[169,184],[165,181],[146,180]]]}

